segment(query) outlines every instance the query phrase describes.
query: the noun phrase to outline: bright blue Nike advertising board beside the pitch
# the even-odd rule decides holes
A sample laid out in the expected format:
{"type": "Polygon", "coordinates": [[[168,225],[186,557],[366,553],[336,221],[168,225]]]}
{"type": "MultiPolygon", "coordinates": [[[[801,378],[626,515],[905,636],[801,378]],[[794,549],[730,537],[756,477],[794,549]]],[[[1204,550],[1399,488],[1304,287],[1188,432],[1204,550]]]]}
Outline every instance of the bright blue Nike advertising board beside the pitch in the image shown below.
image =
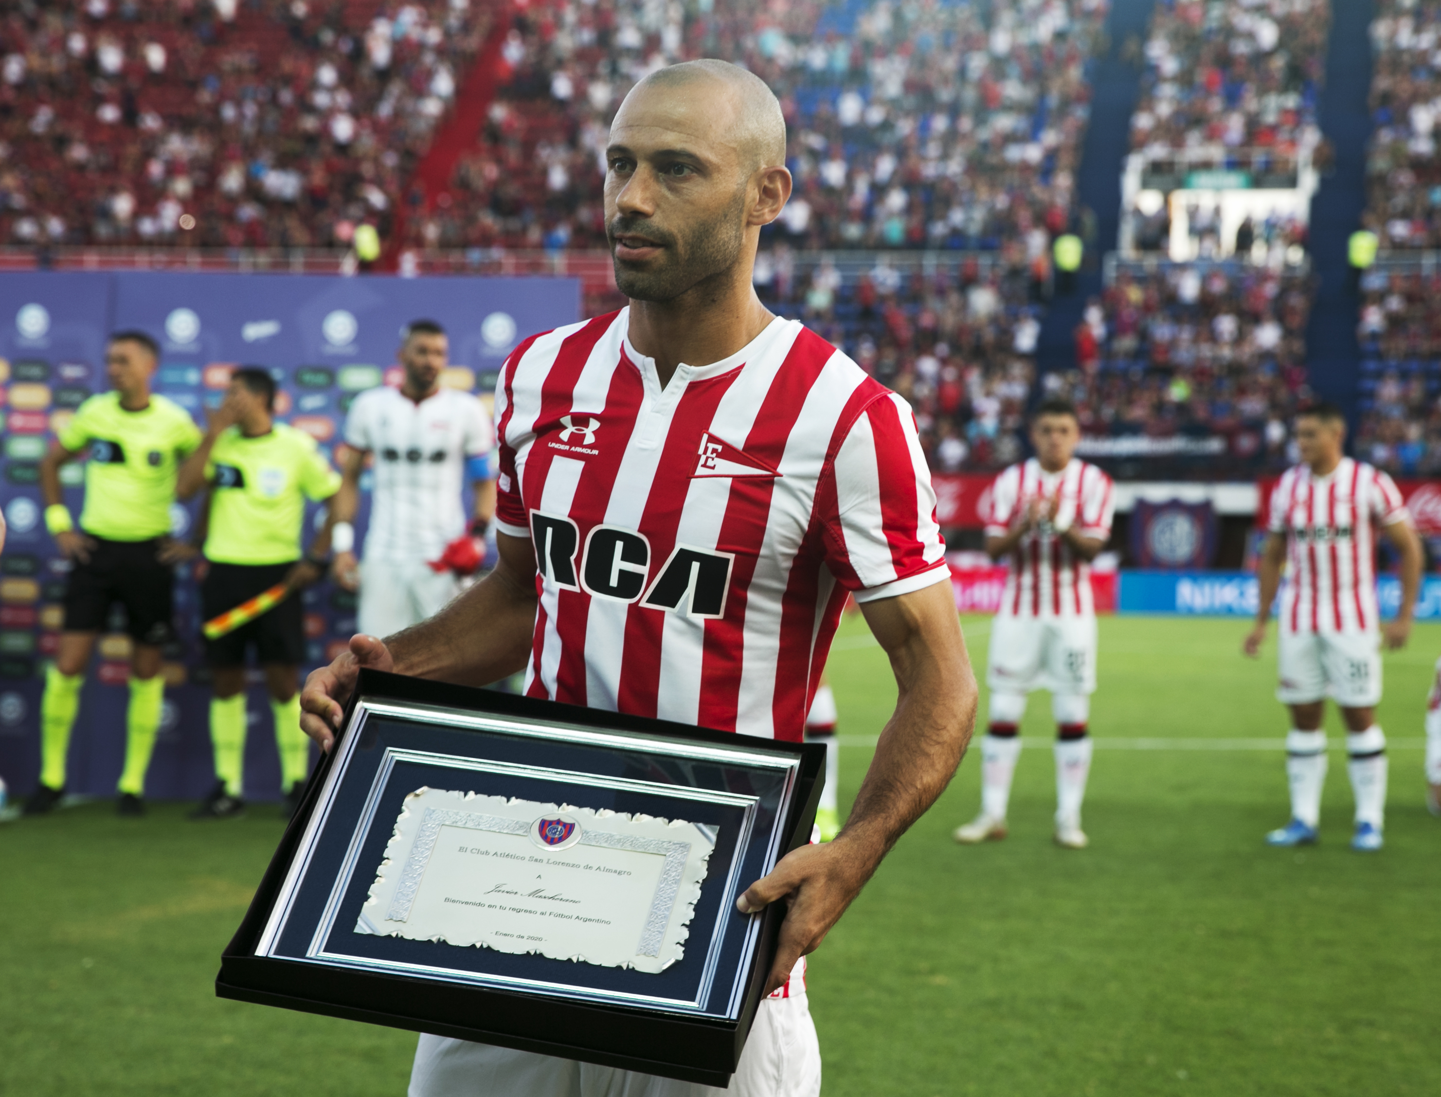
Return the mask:
{"type": "MultiPolygon", "coordinates": [[[[1123,571],[1117,613],[1180,614],[1190,617],[1254,617],[1261,584],[1249,571],[1123,571]]],[[[1401,582],[1376,579],[1382,617],[1395,617],[1401,582]]],[[[1418,620],[1441,620],[1441,577],[1427,577],[1417,600],[1418,620]]]]}

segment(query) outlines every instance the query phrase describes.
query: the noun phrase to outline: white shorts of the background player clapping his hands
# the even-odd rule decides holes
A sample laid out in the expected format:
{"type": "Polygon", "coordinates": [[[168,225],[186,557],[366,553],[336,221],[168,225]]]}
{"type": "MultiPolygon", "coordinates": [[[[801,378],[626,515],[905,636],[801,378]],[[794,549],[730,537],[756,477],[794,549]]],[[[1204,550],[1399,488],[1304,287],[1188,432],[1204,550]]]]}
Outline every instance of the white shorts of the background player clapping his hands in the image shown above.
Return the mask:
{"type": "Polygon", "coordinates": [[[996,614],[986,685],[1003,693],[1094,693],[1095,617],[996,614]]]}

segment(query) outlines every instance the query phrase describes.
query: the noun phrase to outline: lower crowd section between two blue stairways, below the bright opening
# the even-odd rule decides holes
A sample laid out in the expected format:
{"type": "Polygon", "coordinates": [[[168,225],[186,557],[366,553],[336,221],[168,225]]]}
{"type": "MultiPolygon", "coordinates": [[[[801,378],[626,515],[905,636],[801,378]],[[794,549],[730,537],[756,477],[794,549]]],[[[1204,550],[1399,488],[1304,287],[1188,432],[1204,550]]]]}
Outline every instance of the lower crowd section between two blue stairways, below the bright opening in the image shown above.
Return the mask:
{"type": "Polygon", "coordinates": [[[1284,464],[1310,395],[1310,277],[1236,261],[1117,267],[1076,329],[1076,368],[1042,379],[1081,409],[1087,456],[1146,476],[1284,464]]]}

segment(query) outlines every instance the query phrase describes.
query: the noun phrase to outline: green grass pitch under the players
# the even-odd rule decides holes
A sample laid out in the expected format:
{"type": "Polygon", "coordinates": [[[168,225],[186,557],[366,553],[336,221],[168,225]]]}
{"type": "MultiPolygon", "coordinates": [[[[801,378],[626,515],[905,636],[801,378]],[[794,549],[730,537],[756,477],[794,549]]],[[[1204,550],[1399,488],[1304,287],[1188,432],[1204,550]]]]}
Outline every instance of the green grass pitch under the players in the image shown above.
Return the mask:
{"type": "MultiPolygon", "coordinates": [[[[978,675],[987,626],[965,620],[978,675]]],[[[1274,641],[1248,662],[1244,631],[1102,620],[1088,850],[1050,843],[1045,695],[1006,842],[951,843],[978,804],[978,757],[965,761],[811,960],[827,1097],[1437,1091],[1441,820],[1419,745],[1441,626],[1386,656],[1391,807],[1372,856],[1346,846],[1334,722],[1323,843],[1306,852],[1261,843],[1287,814],[1278,748],[1196,748],[1280,747],[1274,641]]],[[[844,806],[895,699],[859,618],[830,676],[844,806]]],[[[281,823],[261,807],[192,825],[184,807],[0,826],[0,1094],[402,1094],[414,1035],[213,996],[281,823]]]]}

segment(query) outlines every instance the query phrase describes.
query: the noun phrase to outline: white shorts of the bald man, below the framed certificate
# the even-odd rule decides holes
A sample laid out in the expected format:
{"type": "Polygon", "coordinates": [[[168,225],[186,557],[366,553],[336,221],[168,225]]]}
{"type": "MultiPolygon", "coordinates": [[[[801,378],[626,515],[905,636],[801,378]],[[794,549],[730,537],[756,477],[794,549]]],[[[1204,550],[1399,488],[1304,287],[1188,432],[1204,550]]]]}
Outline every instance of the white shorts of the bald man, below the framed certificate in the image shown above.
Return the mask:
{"type": "Polygon", "coordinates": [[[818,1097],[820,1044],[806,995],[768,998],[718,1090],[654,1074],[422,1035],[408,1097],[818,1097]]]}

